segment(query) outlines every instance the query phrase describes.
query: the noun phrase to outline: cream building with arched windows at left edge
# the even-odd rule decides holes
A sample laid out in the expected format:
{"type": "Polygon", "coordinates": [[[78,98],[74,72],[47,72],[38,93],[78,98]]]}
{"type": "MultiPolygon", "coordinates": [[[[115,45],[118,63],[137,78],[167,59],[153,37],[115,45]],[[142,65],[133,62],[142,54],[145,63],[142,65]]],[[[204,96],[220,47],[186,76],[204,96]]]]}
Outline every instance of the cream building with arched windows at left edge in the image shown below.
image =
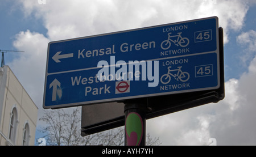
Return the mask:
{"type": "Polygon", "coordinates": [[[0,67],[0,146],[34,145],[38,107],[9,66],[0,67]]]}

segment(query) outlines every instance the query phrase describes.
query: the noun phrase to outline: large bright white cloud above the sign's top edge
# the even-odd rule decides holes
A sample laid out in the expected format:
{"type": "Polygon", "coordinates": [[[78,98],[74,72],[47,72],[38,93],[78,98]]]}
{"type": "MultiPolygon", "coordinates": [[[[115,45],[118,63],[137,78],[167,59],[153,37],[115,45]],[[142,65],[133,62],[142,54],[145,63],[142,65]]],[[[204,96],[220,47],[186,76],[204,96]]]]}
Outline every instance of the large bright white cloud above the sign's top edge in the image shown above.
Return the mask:
{"type": "Polygon", "coordinates": [[[247,3],[240,0],[107,0],[107,1],[20,1],[27,16],[42,18],[50,40],[218,16],[228,42],[230,29],[243,26],[247,3]]]}

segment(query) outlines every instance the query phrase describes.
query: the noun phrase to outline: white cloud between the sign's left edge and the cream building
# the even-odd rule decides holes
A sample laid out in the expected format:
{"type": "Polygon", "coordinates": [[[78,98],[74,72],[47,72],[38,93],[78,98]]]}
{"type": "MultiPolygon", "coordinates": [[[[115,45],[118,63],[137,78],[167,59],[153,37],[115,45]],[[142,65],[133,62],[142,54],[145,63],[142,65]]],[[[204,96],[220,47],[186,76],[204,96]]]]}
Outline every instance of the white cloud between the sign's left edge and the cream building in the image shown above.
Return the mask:
{"type": "Polygon", "coordinates": [[[11,69],[19,78],[28,94],[39,106],[42,104],[44,74],[46,69],[47,44],[49,40],[40,33],[19,32],[14,41],[15,48],[23,50],[10,63],[11,69]]]}

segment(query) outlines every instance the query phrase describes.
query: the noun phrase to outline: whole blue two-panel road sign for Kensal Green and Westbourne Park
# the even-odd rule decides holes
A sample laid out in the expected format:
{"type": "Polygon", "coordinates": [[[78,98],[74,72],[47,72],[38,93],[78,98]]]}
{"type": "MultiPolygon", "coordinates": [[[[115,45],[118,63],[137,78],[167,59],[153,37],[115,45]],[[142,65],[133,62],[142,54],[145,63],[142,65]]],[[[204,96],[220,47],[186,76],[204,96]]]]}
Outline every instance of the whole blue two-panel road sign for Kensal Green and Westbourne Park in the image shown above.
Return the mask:
{"type": "Polygon", "coordinates": [[[217,89],[219,62],[216,16],[54,41],[48,44],[43,107],[217,89]]]}

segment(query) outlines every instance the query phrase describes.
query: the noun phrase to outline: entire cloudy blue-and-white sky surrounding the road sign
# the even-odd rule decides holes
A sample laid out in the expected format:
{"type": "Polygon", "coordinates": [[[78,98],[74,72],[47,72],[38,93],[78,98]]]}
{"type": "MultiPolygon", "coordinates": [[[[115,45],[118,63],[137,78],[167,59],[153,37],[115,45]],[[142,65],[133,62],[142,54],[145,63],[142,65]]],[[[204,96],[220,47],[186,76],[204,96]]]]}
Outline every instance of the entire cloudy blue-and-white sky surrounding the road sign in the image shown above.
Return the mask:
{"type": "Polygon", "coordinates": [[[162,145],[256,145],[255,0],[1,0],[0,49],[42,116],[47,45],[218,16],[224,28],[225,99],[147,121],[162,145]],[[45,2],[45,3],[44,3],[45,2]]]}

